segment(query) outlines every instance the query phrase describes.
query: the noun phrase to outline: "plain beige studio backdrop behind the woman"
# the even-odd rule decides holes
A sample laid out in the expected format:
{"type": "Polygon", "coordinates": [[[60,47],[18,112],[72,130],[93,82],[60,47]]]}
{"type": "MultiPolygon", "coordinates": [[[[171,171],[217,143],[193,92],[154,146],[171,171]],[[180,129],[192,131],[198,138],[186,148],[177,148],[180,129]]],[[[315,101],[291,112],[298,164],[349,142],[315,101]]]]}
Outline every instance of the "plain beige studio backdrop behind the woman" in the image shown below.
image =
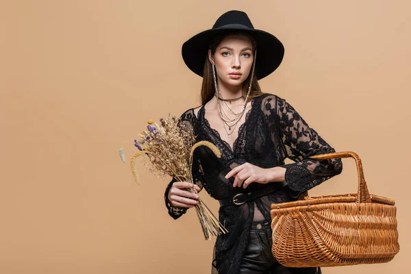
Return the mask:
{"type": "MultiPolygon", "coordinates": [[[[262,89],[337,151],[356,151],[370,192],[397,201],[392,262],[323,273],[408,273],[407,0],[1,1],[0,273],[210,272],[214,241],[195,212],[173,221],[166,182],[139,165],[136,185],[129,158],[147,119],[199,105],[182,43],[232,9],[286,48],[262,89]]],[[[311,195],[356,191],[353,160],[343,161],[311,195]]]]}

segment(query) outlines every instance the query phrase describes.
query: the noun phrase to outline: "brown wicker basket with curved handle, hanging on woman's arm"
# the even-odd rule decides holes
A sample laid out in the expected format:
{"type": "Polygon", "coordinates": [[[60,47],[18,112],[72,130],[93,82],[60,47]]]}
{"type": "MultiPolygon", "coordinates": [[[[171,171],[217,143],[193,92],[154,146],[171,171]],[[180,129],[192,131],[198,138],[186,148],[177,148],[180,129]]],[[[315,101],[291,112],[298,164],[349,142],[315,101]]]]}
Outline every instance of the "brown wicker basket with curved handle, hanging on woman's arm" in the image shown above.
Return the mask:
{"type": "Polygon", "coordinates": [[[310,158],[354,158],[358,193],[271,205],[273,256],[288,267],[375,264],[399,251],[395,201],[370,195],[361,160],[351,151],[310,158]]]}

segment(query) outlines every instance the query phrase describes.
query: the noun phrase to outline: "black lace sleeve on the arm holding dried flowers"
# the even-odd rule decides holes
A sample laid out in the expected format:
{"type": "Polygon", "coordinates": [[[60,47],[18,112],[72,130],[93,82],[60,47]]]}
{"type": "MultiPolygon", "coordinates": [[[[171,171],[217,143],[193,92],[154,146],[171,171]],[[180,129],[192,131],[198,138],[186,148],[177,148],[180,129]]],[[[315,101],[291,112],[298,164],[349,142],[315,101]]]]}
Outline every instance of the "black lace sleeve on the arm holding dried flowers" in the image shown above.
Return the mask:
{"type": "MultiPolygon", "coordinates": [[[[195,123],[194,119],[195,119],[194,110],[190,109],[184,112],[182,116],[180,116],[179,123],[184,123],[186,127],[193,128],[193,125],[195,123]]],[[[193,176],[193,180],[195,184],[197,184],[197,186],[199,186],[202,189],[203,185],[201,184],[199,180],[198,174],[193,173],[192,176],[193,176]]],[[[166,187],[166,191],[164,192],[164,201],[166,203],[166,208],[169,210],[169,215],[173,217],[173,219],[178,219],[180,216],[182,216],[182,214],[187,212],[188,208],[179,208],[177,206],[173,206],[171,202],[169,201],[168,199],[169,191],[170,191],[171,186],[173,186],[174,182],[177,182],[177,179],[173,178],[171,182],[169,183],[169,185],[166,187]]]]}

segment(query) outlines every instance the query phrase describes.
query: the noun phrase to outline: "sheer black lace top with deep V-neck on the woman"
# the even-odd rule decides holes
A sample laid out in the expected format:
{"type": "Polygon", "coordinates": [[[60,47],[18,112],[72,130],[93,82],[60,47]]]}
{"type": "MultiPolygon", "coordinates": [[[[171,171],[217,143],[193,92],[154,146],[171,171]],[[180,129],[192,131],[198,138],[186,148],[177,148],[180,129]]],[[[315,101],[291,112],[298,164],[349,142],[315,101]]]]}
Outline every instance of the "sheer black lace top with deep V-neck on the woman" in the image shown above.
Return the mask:
{"type": "MultiPolygon", "coordinates": [[[[210,127],[204,112],[203,105],[197,116],[194,109],[190,109],[181,118],[182,123],[193,127],[197,142],[208,140],[222,153],[219,159],[207,147],[199,147],[195,152],[192,175],[196,184],[205,188],[211,197],[225,199],[232,197],[234,192],[249,192],[266,186],[251,183],[245,190],[234,189],[234,179],[225,179],[225,175],[239,164],[249,162],[262,168],[286,168],[287,185],[284,188],[240,206],[224,206],[219,209],[219,220],[229,232],[216,238],[212,273],[235,274],[238,273],[238,266],[247,246],[254,206],[271,222],[271,203],[295,201],[301,193],[339,174],[343,165],[340,159],[308,159],[311,155],[335,151],[288,102],[276,95],[263,94],[251,101],[251,109],[238,129],[238,138],[233,147],[221,140],[219,132],[210,127]],[[286,158],[295,162],[284,164],[286,158]]],[[[166,188],[165,200],[169,214],[177,219],[186,209],[172,206],[166,198],[173,182],[175,179],[166,188]]]]}

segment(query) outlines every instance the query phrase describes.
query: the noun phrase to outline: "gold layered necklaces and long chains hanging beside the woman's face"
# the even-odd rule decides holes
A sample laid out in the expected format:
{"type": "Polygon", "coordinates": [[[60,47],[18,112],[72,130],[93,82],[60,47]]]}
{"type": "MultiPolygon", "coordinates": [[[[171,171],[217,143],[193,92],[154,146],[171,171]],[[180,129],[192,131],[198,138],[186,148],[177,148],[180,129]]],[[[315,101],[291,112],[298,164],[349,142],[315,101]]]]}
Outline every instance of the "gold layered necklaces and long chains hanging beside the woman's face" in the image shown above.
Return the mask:
{"type": "Polygon", "coordinates": [[[229,101],[229,103],[231,104],[232,101],[237,101],[240,100],[243,97],[239,97],[236,99],[223,99],[223,96],[221,95],[221,92],[219,91],[218,87],[217,87],[217,81],[216,81],[216,71],[214,69],[214,65],[212,66],[212,70],[213,70],[213,78],[214,78],[214,87],[216,90],[216,97],[217,97],[217,108],[219,109],[219,114],[221,116],[221,119],[223,120],[223,126],[225,129],[225,132],[227,133],[227,136],[231,136],[234,132],[234,129],[236,129],[237,124],[240,122],[242,115],[244,115],[245,113],[245,109],[246,109],[246,105],[247,105],[247,101],[249,99],[249,95],[251,92],[251,84],[253,83],[253,75],[254,75],[254,69],[256,68],[256,56],[257,56],[257,51],[254,53],[254,60],[253,60],[253,69],[251,71],[251,80],[250,80],[250,84],[249,84],[249,88],[247,90],[247,96],[245,97],[245,101],[244,104],[242,105],[241,111],[236,113],[232,110],[232,108],[229,107],[229,105],[227,104],[227,101],[229,101]],[[218,94],[218,95],[217,95],[218,94]],[[227,109],[232,112],[232,114],[234,114],[234,119],[229,119],[229,117],[227,116],[227,114],[224,112],[223,108],[221,108],[221,101],[223,101],[227,107],[227,109]],[[228,130],[227,130],[228,128],[228,130]]]}

